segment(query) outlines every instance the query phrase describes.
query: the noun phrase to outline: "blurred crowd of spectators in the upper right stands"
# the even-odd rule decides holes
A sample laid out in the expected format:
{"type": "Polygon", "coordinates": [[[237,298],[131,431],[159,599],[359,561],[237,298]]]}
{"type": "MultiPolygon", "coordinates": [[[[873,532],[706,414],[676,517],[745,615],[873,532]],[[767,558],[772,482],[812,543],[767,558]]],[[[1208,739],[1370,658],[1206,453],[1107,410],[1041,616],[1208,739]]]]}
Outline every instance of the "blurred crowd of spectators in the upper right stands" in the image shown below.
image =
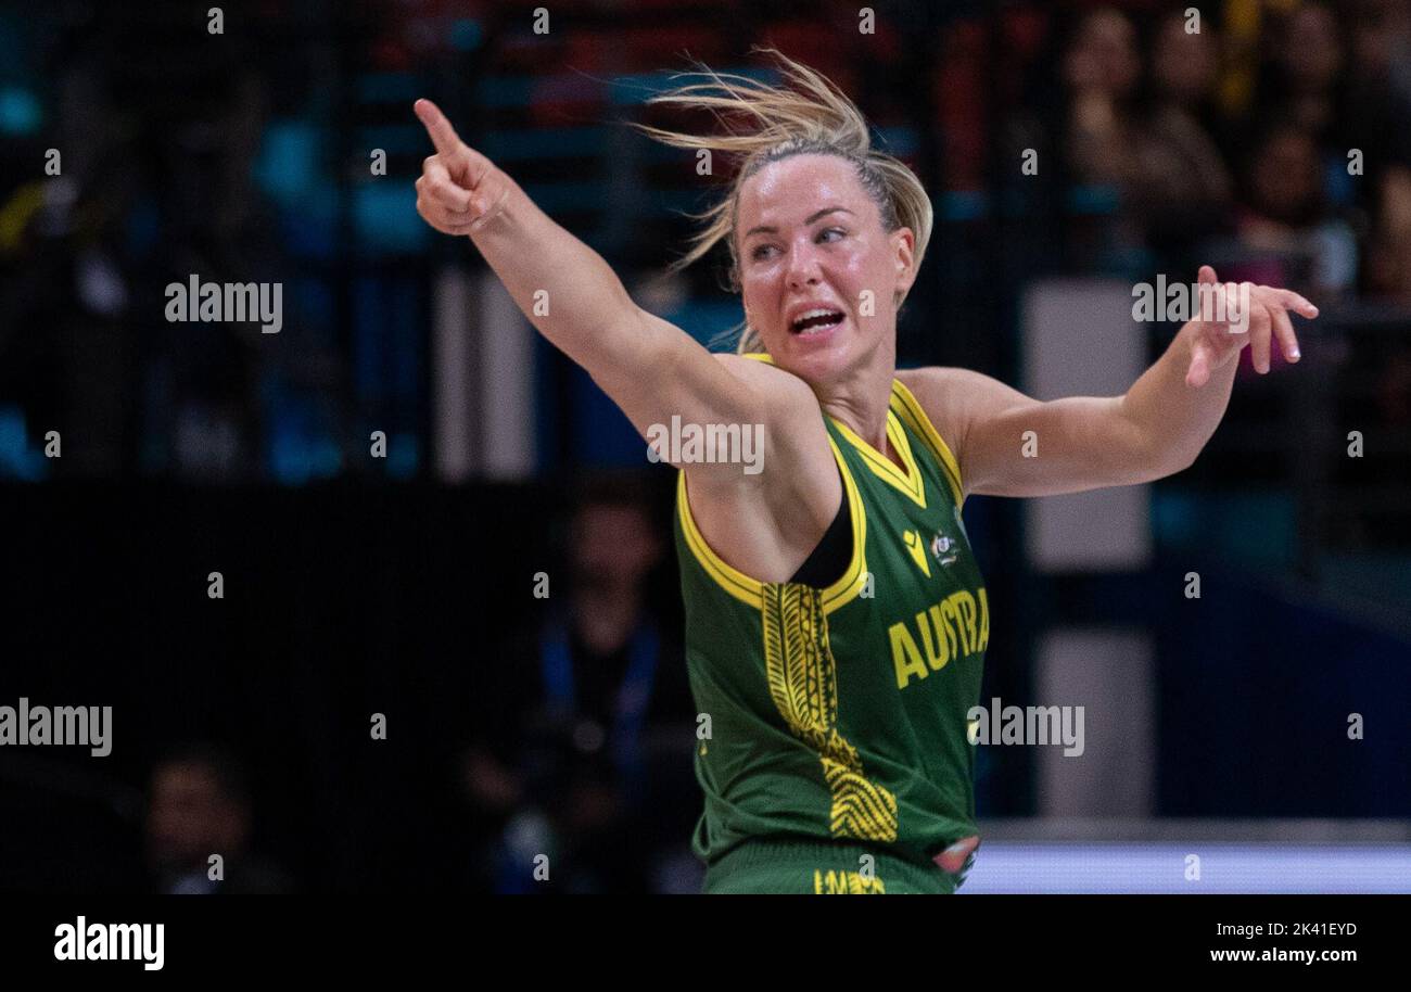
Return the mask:
{"type": "Polygon", "coordinates": [[[1062,106],[1016,138],[1118,192],[1118,250],[1411,303],[1411,4],[1102,7],[1068,28],[1044,80],[1062,106]]]}

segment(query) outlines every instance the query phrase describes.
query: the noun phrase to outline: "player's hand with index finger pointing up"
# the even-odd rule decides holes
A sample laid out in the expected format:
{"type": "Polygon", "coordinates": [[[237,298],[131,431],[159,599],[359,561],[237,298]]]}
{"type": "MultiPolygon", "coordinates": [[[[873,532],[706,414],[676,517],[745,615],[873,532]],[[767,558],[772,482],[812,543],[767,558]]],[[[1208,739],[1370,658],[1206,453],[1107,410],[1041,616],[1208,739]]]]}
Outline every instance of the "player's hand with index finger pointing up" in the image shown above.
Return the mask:
{"type": "Polygon", "coordinates": [[[416,213],[442,234],[474,234],[499,213],[512,182],[456,135],[435,103],[422,99],[413,109],[436,145],[416,181],[416,213]]]}

